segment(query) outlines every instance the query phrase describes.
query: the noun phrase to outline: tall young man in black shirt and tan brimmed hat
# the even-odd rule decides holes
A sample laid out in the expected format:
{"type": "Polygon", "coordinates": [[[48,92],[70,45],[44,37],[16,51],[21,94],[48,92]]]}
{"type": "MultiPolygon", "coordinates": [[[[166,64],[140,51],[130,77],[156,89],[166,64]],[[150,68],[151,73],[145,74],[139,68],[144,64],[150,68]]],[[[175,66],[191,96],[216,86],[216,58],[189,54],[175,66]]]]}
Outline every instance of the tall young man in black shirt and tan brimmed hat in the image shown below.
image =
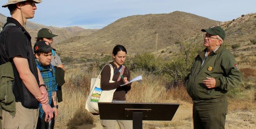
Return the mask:
{"type": "Polygon", "coordinates": [[[8,7],[11,17],[7,18],[0,35],[0,64],[12,64],[16,101],[16,114],[3,110],[4,129],[36,129],[39,103],[49,119],[53,117],[46,86],[34,60],[31,36],[25,25],[27,19],[34,18],[36,3],[41,3],[41,0],[8,0],[2,6],[8,7]]]}

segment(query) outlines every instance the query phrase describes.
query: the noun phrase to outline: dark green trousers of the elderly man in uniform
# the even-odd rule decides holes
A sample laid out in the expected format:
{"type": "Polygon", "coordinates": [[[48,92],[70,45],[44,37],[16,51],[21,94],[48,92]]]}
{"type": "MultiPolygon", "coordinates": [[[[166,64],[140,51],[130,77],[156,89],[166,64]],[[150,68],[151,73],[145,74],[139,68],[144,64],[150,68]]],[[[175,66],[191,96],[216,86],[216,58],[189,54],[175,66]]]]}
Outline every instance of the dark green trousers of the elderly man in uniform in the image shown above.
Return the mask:
{"type": "Polygon", "coordinates": [[[225,129],[226,97],[193,104],[194,129],[225,129]]]}

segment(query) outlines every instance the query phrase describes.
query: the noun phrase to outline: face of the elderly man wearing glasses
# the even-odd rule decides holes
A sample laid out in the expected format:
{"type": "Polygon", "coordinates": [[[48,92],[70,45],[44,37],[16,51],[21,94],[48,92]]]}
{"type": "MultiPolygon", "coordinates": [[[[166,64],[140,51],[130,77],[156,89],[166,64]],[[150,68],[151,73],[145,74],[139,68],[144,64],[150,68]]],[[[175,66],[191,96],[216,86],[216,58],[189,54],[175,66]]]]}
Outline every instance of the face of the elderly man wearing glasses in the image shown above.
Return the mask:
{"type": "Polygon", "coordinates": [[[204,46],[206,48],[215,48],[219,45],[219,39],[217,35],[210,35],[209,33],[206,33],[204,36],[204,46]]]}

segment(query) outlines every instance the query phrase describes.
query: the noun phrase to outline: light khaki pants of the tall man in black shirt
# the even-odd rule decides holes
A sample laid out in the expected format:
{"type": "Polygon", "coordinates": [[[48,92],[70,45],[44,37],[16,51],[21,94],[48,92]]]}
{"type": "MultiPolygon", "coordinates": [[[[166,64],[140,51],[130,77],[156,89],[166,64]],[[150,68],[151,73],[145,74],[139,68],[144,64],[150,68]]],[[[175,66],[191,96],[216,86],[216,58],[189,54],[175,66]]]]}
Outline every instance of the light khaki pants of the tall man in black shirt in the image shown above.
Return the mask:
{"type": "Polygon", "coordinates": [[[39,116],[38,109],[27,109],[16,102],[16,114],[11,116],[7,111],[3,110],[3,129],[36,129],[39,116]]]}

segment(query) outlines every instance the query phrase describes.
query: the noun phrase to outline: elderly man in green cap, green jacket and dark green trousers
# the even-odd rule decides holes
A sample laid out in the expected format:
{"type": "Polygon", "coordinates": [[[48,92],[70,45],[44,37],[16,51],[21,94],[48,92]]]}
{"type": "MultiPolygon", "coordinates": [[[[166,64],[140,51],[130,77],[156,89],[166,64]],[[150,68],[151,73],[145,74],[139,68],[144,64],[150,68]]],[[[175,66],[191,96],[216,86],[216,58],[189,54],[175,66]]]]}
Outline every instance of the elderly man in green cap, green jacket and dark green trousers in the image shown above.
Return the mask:
{"type": "Polygon", "coordinates": [[[202,32],[206,32],[206,48],[195,58],[186,80],[193,100],[194,129],[225,129],[226,93],[240,85],[242,74],[233,54],[221,46],[225,31],[212,26],[202,32]]]}

